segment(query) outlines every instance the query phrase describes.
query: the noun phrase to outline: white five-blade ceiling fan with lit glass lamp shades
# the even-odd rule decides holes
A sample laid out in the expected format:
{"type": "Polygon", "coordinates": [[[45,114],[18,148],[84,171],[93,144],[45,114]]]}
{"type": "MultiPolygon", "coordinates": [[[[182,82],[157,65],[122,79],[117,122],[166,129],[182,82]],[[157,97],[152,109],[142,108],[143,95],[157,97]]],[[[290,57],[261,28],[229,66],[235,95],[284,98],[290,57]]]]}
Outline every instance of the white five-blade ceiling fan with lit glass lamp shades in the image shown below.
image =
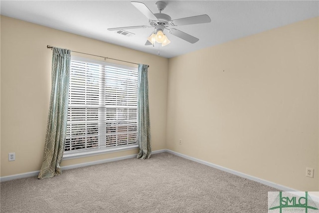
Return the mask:
{"type": "Polygon", "coordinates": [[[185,32],[182,32],[176,28],[168,28],[170,26],[181,26],[188,24],[198,24],[198,23],[209,23],[210,17],[206,14],[204,15],[196,15],[185,18],[179,18],[172,20],[171,17],[161,11],[166,7],[166,2],[157,1],[156,6],[159,9],[159,13],[153,13],[144,3],[138,1],[131,1],[131,3],[138,8],[147,18],[149,18],[149,26],[141,25],[141,26],[125,26],[125,27],[115,27],[108,28],[110,31],[114,30],[126,30],[126,29],[137,29],[137,28],[149,28],[154,27],[154,31],[148,37],[145,45],[154,45],[155,42],[161,43],[162,46],[165,46],[170,43],[167,36],[164,34],[164,30],[168,30],[168,32],[172,35],[175,35],[189,43],[195,43],[199,39],[189,35],[185,32]]]}

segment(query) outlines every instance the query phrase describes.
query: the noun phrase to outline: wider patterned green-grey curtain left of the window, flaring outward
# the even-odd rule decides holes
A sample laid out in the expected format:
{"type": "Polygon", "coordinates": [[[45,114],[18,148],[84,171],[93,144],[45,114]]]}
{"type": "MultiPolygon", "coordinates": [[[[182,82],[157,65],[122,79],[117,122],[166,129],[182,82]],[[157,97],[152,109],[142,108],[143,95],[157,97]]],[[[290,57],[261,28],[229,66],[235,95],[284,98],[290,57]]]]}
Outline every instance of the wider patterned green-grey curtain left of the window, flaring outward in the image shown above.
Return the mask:
{"type": "Polygon", "coordinates": [[[71,50],[53,47],[51,96],[44,157],[38,179],[61,175],[68,114],[71,50]]]}

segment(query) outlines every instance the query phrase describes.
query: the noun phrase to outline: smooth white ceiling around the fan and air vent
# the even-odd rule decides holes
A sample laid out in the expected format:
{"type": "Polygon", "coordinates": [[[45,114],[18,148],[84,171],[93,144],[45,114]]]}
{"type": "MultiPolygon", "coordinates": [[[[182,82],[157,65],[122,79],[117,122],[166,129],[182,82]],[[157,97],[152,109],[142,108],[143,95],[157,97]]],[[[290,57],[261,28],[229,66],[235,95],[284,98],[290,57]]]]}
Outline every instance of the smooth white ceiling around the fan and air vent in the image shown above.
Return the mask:
{"type": "MultiPolygon", "coordinates": [[[[139,0],[135,0],[139,1],[139,0]]],[[[145,46],[153,28],[130,29],[127,37],[107,28],[148,25],[129,0],[1,0],[1,15],[37,23],[132,49],[174,57],[208,46],[319,16],[319,1],[164,0],[172,19],[208,14],[210,23],[175,28],[199,38],[191,44],[166,32],[171,43],[145,46]]],[[[156,0],[141,0],[157,13],[156,0]]],[[[49,44],[49,43],[48,43],[49,44]]],[[[63,47],[68,48],[68,47],[63,47]]],[[[80,51],[79,48],[78,51],[80,51]]]]}

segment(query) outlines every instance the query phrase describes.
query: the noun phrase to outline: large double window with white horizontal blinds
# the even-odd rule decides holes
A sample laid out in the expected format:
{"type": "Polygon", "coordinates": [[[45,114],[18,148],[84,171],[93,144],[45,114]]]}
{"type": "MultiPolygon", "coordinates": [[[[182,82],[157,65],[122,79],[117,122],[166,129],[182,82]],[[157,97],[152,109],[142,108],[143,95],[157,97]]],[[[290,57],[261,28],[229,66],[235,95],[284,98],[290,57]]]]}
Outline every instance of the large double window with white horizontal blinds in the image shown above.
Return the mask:
{"type": "Polygon", "coordinates": [[[72,57],[65,155],[137,146],[138,70],[72,57]]]}

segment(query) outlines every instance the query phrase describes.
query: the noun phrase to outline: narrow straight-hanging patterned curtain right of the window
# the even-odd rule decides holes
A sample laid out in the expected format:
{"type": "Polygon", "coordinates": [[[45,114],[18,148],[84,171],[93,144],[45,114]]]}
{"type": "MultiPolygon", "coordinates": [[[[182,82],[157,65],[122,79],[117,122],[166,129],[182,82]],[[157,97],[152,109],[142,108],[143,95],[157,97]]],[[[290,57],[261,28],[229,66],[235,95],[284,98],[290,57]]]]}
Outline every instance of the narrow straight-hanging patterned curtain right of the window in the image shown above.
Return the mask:
{"type": "Polygon", "coordinates": [[[151,127],[149,113],[149,65],[139,64],[138,77],[138,143],[139,154],[137,158],[151,157],[151,127]]]}

